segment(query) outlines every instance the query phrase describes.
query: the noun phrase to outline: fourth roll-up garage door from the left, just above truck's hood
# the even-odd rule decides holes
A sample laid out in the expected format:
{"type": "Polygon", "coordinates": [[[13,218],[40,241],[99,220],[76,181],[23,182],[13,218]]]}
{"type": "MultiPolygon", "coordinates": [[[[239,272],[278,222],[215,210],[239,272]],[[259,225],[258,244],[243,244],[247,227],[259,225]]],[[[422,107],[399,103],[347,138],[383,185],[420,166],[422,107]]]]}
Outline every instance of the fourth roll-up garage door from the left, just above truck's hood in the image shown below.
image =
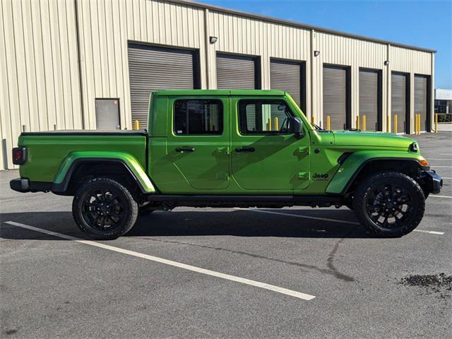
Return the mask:
{"type": "Polygon", "coordinates": [[[323,66],[323,127],[326,118],[331,119],[331,129],[350,127],[347,95],[350,93],[348,69],[338,66],[323,66]]]}

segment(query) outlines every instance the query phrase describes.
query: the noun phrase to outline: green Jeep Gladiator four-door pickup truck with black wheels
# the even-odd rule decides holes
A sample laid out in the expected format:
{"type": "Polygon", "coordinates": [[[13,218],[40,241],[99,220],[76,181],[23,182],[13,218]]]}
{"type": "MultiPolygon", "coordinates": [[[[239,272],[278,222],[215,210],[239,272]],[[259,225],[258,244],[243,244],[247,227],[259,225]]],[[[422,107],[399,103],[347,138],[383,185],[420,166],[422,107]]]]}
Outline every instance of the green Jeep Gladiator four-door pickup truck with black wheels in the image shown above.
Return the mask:
{"type": "Polygon", "coordinates": [[[381,237],[417,227],[442,180],[415,140],[312,126],[278,90],[167,90],[147,131],[22,133],[11,189],[74,196],[78,227],[114,239],[177,206],[347,206],[381,237]]]}

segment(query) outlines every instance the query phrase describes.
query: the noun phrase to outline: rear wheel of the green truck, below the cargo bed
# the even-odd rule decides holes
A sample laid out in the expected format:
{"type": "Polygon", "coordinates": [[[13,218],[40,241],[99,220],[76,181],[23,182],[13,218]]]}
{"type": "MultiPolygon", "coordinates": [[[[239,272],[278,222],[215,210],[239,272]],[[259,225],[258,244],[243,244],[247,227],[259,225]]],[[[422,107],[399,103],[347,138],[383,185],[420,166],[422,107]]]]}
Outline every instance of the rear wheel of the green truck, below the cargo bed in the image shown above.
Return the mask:
{"type": "Polygon", "coordinates": [[[135,225],[138,205],[122,184],[114,179],[97,177],[76,191],[72,215],[77,226],[93,239],[117,239],[135,225]]]}

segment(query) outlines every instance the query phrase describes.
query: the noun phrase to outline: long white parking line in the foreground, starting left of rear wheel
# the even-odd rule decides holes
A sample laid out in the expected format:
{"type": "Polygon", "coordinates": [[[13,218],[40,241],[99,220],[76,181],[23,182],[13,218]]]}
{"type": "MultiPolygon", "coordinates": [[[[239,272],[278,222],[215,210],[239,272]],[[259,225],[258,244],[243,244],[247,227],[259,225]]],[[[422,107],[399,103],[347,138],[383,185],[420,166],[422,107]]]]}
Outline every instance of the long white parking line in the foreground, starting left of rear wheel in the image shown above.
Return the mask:
{"type": "Polygon", "coordinates": [[[91,240],[83,240],[80,238],[71,237],[70,235],[52,232],[49,230],[43,230],[42,228],[33,227],[30,225],[20,224],[19,222],[6,221],[5,224],[22,227],[27,230],[48,234],[53,237],[59,237],[62,239],[71,240],[73,242],[80,242],[81,244],[85,244],[85,245],[100,247],[101,249],[108,249],[109,251],[114,251],[114,252],[118,252],[121,254],[127,254],[129,256],[135,256],[137,258],[143,258],[146,260],[155,261],[157,263],[165,263],[165,265],[174,266],[174,267],[178,267],[178,268],[184,268],[184,270],[191,270],[193,272],[211,275],[213,277],[222,278],[225,280],[231,280],[236,283],[242,283],[245,285],[260,287],[260,288],[263,288],[264,290],[278,292],[283,295],[290,295],[291,297],[295,297],[295,298],[299,298],[299,299],[303,299],[303,300],[311,300],[311,299],[315,298],[314,295],[307,295],[306,293],[297,292],[294,290],[287,290],[287,288],[270,285],[270,284],[266,284],[266,283],[261,283],[256,280],[249,280],[249,279],[237,277],[235,275],[229,275],[229,274],[225,274],[225,273],[215,272],[215,270],[206,270],[204,268],[186,265],[185,263],[178,263],[177,261],[171,261],[171,260],[167,260],[164,258],[158,258],[157,256],[149,256],[148,254],[143,254],[143,253],[139,253],[139,252],[135,252],[135,251],[129,251],[128,249],[120,249],[119,247],[101,244],[100,242],[93,242],[91,240]]]}

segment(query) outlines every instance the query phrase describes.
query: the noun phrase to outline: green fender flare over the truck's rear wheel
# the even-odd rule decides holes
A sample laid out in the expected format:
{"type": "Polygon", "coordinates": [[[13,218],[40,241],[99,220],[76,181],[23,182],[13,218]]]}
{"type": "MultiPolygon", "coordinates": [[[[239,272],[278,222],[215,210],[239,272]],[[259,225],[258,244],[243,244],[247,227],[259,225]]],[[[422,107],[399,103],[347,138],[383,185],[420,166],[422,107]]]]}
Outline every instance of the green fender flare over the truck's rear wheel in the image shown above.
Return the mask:
{"type": "Polygon", "coordinates": [[[124,166],[124,169],[131,174],[136,184],[143,194],[155,193],[155,187],[150,181],[145,169],[140,162],[130,153],[124,152],[98,152],[98,151],[79,151],[67,155],[58,169],[52,184],[52,192],[64,193],[68,189],[69,182],[74,174],[74,170],[82,163],[111,163],[117,162],[124,166]]]}

